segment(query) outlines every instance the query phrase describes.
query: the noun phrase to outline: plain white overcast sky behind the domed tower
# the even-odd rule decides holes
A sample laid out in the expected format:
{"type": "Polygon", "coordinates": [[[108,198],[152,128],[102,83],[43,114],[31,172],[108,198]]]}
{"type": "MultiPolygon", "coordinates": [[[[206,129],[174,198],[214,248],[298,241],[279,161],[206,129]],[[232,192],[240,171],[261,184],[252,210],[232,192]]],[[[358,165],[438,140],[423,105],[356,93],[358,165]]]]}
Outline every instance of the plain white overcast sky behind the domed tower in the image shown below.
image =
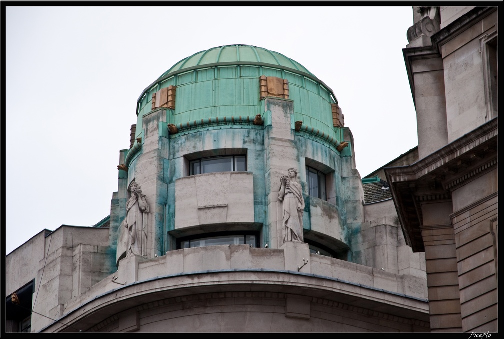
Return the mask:
{"type": "MultiPolygon", "coordinates": [[[[110,214],[142,91],[181,59],[251,44],[331,87],[365,177],[418,145],[408,7],[6,7],[6,254],[110,214]]],[[[3,10],[4,10],[3,9],[3,10]]]]}

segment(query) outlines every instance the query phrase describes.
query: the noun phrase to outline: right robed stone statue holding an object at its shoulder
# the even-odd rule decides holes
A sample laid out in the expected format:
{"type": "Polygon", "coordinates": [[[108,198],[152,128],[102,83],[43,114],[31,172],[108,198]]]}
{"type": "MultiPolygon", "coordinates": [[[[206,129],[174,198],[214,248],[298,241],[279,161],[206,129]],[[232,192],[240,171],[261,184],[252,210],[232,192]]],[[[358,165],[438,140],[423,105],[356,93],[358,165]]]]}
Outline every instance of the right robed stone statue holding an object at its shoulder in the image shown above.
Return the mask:
{"type": "Polygon", "coordinates": [[[282,201],[283,242],[303,242],[303,209],[304,199],[301,184],[297,182],[297,170],[289,168],[288,176],[280,178],[281,186],[278,199],[282,201]]]}

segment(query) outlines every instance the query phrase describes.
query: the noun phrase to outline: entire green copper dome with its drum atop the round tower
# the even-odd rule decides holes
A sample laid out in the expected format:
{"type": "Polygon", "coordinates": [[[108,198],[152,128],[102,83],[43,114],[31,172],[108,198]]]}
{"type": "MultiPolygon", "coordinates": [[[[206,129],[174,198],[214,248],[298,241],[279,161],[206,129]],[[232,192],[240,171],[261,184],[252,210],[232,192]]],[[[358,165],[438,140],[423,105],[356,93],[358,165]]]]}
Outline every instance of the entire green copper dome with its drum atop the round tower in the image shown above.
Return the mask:
{"type": "Polygon", "coordinates": [[[213,47],[184,58],[164,72],[141,94],[137,106],[137,132],[142,117],[155,106],[153,94],[173,86],[170,124],[187,124],[219,117],[256,117],[264,114],[261,77],[286,80],[296,121],[334,136],[331,88],[297,61],[263,47],[233,44],[213,47]]]}

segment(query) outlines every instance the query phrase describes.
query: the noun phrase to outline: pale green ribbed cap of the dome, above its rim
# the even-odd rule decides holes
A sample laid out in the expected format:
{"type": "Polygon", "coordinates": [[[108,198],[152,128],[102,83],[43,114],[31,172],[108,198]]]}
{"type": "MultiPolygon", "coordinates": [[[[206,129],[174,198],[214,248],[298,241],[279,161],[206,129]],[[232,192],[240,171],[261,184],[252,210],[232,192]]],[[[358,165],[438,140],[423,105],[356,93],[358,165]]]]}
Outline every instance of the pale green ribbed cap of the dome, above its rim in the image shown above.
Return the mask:
{"type": "Polygon", "coordinates": [[[306,73],[317,78],[303,65],[282,53],[253,45],[233,44],[212,47],[194,53],[190,57],[180,60],[164,72],[158,80],[182,71],[217,65],[270,65],[275,68],[290,69],[296,73],[306,73]]]}

